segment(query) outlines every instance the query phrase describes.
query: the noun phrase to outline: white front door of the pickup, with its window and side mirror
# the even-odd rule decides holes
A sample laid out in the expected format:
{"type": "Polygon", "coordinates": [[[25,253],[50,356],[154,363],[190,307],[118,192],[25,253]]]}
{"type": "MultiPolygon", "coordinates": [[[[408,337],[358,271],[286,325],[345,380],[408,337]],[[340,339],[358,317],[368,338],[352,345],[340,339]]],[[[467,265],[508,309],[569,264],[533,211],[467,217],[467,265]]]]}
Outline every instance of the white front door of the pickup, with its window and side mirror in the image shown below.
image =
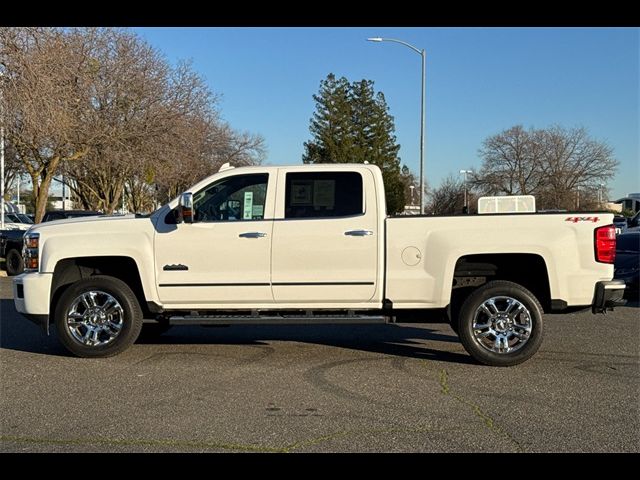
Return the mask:
{"type": "Polygon", "coordinates": [[[227,175],[193,192],[194,223],[171,225],[167,216],[155,237],[156,284],[165,307],[273,302],[271,183],[266,171],[227,175]]]}

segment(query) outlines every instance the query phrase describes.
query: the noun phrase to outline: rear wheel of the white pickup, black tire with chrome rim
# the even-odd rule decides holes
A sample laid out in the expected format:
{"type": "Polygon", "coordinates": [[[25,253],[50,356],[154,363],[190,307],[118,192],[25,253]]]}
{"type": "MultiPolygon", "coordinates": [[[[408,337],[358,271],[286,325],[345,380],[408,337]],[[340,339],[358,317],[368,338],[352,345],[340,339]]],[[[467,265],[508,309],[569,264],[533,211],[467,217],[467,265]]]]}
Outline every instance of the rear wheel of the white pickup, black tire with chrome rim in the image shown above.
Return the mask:
{"type": "Polygon", "coordinates": [[[462,304],[460,341],[477,361],[508,367],[531,358],[544,334],[542,306],[526,288],[495,280],[474,291],[462,304]]]}

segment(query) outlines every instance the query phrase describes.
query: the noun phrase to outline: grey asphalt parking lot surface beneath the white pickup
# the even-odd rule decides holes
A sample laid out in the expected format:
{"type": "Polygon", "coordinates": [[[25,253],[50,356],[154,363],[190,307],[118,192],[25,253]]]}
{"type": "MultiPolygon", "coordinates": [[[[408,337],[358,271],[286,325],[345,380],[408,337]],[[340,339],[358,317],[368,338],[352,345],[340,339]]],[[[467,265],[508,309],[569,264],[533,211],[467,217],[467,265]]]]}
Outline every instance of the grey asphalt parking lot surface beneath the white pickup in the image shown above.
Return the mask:
{"type": "Polygon", "coordinates": [[[638,452],[640,308],[547,315],[475,364],[444,324],[174,327],[67,355],[0,277],[2,452],[638,452]]]}

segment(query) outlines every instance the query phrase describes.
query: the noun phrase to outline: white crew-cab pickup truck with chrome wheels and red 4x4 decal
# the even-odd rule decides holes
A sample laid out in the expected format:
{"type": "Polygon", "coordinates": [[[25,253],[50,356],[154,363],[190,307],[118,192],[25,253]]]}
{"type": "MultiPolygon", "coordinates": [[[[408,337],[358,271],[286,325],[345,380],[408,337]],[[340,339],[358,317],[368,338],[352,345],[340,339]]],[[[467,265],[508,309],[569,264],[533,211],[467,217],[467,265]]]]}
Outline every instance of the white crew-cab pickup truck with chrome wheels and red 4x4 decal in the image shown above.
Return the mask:
{"type": "Polygon", "coordinates": [[[611,214],[389,217],[384,198],[372,165],[223,166],[147,217],[32,227],[15,305],[81,357],[171,325],[440,309],[471,356],[508,366],[538,350],[543,312],[623,302],[611,214]]]}

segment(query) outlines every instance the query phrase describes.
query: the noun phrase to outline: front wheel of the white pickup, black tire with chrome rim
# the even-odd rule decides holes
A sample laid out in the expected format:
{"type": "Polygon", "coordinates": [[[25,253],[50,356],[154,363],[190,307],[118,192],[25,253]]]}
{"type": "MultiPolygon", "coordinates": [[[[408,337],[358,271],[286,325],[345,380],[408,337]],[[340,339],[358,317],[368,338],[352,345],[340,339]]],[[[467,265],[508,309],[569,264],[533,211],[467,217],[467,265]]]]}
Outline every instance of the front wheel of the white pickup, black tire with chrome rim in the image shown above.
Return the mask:
{"type": "Polygon", "coordinates": [[[85,358],[123,352],[142,328],[142,310],[131,288],[105,275],[71,285],[60,297],[54,319],[65,348],[85,358]]]}

